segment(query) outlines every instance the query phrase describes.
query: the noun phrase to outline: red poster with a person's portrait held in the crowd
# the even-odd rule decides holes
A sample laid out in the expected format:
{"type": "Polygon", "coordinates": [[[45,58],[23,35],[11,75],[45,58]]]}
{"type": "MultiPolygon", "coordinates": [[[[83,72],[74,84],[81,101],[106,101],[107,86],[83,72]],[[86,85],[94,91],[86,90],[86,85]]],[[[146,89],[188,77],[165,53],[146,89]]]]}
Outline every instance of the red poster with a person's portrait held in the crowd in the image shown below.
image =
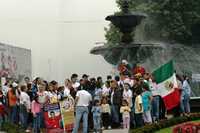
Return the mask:
{"type": "Polygon", "coordinates": [[[59,103],[45,105],[44,111],[45,125],[47,129],[57,129],[62,127],[59,103]]]}

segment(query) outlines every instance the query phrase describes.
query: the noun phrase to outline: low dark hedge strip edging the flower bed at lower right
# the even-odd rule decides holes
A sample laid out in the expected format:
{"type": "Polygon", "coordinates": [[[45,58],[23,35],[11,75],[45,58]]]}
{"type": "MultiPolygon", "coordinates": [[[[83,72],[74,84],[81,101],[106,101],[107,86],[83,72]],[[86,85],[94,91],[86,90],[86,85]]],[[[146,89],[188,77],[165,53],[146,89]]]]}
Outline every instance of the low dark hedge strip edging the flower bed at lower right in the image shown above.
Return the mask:
{"type": "Polygon", "coordinates": [[[199,119],[200,119],[200,113],[193,113],[190,116],[171,118],[169,120],[159,121],[159,123],[154,123],[151,125],[143,126],[141,128],[132,129],[130,130],[130,133],[154,133],[163,128],[168,128],[180,123],[184,123],[187,121],[195,121],[199,119]]]}

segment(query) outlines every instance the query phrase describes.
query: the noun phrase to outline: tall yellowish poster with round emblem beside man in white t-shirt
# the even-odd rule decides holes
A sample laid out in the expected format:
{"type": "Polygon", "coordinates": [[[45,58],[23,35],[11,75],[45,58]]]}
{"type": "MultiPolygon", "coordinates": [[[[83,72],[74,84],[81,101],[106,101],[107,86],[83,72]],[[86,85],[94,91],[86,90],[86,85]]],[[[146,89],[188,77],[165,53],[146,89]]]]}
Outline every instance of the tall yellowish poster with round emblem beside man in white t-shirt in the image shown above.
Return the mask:
{"type": "Polygon", "coordinates": [[[61,116],[65,131],[71,131],[74,127],[74,99],[71,96],[60,101],[61,116]]]}

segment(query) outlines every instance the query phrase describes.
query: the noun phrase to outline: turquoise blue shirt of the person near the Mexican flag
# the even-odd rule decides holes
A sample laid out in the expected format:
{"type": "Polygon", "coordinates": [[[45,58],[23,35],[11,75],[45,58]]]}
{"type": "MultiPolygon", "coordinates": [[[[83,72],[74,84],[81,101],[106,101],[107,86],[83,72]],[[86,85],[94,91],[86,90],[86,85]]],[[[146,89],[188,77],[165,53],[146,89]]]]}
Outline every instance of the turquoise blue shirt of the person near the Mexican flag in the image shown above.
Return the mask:
{"type": "Polygon", "coordinates": [[[150,101],[151,96],[152,94],[150,91],[145,91],[142,93],[142,104],[144,112],[149,111],[151,109],[151,101],[150,101]]]}

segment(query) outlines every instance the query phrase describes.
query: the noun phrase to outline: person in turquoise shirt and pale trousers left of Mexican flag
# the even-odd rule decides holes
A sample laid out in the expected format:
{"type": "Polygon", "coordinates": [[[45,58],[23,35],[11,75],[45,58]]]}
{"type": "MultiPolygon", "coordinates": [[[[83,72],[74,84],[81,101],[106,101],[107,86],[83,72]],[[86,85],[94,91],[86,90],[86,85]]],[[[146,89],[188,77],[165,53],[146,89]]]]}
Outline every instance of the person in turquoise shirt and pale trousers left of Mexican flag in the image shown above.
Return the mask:
{"type": "Polygon", "coordinates": [[[144,84],[144,92],[142,93],[142,104],[144,108],[144,113],[143,113],[143,119],[145,124],[151,124],[152,123],[152,118],[151,118],[151,101],[152,101],[152,94],[149,91],[149,86],[148,84],[144,84]]]}

